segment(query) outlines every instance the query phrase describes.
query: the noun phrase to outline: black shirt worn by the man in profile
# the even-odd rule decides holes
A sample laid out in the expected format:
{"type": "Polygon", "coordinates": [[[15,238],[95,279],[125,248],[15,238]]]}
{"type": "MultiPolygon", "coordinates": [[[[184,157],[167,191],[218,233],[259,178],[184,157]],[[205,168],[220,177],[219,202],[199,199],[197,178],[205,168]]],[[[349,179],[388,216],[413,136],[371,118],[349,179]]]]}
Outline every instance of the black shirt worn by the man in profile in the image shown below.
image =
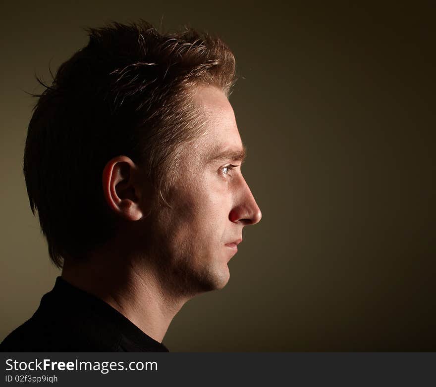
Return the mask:
{"type": "Polygon", "coordinates": [[[0,344],[1,352],[168,352],[96,296],[57,277],[35,314],[0,344]]]}

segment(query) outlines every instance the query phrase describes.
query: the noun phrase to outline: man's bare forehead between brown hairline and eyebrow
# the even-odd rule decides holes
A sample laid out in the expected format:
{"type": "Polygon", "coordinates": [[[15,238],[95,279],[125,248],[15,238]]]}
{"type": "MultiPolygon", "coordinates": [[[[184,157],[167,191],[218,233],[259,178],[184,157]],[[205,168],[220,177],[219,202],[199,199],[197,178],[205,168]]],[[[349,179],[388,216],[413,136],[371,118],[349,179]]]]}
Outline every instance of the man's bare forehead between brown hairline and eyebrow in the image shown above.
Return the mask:
{"type": "Polygon", "coordinates": [[[242,153],[244,148],[233,108],[224,93],[213,86],[199,86],[194,102],[204,117],[204,136],[197,142],[197,150],[205,158],[223,151],[242,153]]]}

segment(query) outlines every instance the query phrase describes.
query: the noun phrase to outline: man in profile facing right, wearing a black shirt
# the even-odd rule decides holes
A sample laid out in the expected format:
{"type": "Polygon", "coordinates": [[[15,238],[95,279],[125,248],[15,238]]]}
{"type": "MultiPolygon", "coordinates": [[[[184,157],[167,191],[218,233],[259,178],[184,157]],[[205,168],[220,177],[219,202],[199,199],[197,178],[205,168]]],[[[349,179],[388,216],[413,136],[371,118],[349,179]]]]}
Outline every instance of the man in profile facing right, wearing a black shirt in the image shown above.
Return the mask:
{"type": "Polygon", "coordinates": [[[241,174],[231,51],[146,22],[89,30],[29,124],[24,175],[54,289],[2,351],[167,351],[261,212],[241,174]]]}

